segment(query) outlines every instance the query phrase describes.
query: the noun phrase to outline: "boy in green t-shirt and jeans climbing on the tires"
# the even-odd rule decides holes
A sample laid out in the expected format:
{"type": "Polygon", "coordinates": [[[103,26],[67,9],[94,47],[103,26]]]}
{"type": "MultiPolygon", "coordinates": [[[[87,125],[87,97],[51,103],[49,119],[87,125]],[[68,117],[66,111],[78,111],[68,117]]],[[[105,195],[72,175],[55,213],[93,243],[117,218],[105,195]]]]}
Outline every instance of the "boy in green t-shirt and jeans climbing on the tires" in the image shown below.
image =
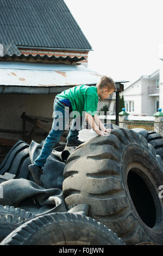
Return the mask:
{"type": "Polygon", "coordinates": [[[43,144],[40,155],[37,156],[33,164],[28,166],[34,181],[38,185],[41,185],[40,176],[42,174],[42,167],[46,163],[47,157],[52,153],[55,144],[58,143],[62,131],[65,130],[65,125],[72,111],[77,113],[77,118],[73,119],[71,129],[68,133],[67,147],[77,147],[83,143],[78,139],[78,130],[82,126],[81,122],[79,129],[76,126],[78,119],[80,118],[80,121],[82,120],[83,112],[85,113],[86,121],[99,136],[108,135],[107,132],[110,129],[105,129],[96,111],[98,97],[101,100],[107,99],[114,91],[116,91],[116,85],[112,78],[102,76],[96,86],[76,86],[65,90],[55,97],[52,129],[43,144]],[[58,124],[59,126],[57,126],[58,124]]]}

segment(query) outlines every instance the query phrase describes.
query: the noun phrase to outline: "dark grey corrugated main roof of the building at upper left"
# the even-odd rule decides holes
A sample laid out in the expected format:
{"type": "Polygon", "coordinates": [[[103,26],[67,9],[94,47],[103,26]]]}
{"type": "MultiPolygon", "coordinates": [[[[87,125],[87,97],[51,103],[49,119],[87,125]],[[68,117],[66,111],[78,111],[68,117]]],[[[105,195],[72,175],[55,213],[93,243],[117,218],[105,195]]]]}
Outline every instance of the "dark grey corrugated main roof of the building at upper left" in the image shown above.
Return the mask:
{"type": "Polygon", "coordinates": [[[0,43],[92,49],[64,0],[0,0],[0,43]]]}

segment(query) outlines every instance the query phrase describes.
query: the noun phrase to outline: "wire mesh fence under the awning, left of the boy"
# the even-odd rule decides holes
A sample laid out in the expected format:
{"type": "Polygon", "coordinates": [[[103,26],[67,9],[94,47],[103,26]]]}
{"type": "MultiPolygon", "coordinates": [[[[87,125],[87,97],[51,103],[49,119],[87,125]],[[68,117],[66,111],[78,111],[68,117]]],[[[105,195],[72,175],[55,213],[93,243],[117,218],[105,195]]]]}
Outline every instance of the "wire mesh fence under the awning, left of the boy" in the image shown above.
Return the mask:
{"type": "MultiPolygon", "coordinates": [[[[21,115],[23,112],[27,115],[52,118],[55,95],[1,94],[0,138],[22,139],[21,115]]],[[[26,130],[30,131],[32,128],[33,125],[27,123],[26,130]]],[[[41,132],[38,130],[37,134],[41,132]]],[[[46,134],[43,133],[45,137],[46,134]]]]}

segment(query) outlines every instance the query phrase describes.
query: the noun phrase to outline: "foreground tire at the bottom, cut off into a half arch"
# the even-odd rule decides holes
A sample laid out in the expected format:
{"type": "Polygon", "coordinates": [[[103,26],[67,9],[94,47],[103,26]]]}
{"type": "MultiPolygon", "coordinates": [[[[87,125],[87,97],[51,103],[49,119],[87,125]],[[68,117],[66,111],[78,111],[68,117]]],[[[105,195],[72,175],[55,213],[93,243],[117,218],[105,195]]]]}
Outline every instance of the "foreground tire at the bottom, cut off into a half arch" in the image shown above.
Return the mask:
{"type": "Polygon", "coordinates": [[[15,229],[1,245],[125,245],[102,223],[59,212],[36,217],[15,229]]]}

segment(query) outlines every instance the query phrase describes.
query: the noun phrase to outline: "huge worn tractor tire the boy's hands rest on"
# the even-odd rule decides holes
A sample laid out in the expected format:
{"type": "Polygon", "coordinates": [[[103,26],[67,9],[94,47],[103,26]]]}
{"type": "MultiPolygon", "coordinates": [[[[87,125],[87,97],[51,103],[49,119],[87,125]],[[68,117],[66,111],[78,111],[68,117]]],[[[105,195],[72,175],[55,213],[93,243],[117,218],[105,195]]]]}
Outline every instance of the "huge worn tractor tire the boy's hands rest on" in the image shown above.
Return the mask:
{"type": "Polygon", "coordinates": [[[127,245],[163,244],[163,161],[133,130],[112,130],[80,145],[68,157],[63,192],[67,208],[90,204],[89,216],[127,245]]]}

